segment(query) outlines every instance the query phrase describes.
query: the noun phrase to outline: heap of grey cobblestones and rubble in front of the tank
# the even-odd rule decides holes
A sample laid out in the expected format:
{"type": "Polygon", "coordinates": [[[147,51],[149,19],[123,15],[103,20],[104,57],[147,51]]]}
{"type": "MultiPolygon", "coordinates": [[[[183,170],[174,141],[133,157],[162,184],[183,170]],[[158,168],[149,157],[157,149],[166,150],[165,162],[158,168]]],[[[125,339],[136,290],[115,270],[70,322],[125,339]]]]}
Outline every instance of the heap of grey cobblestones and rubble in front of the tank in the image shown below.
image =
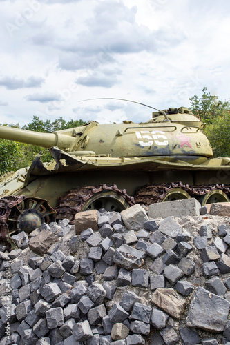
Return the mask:
{"type": "Polygon", "coordinates": [[[186,199],[14,235],[18,249],[0,248],[0,345],[230,345],[229,216],[186,199]]]}

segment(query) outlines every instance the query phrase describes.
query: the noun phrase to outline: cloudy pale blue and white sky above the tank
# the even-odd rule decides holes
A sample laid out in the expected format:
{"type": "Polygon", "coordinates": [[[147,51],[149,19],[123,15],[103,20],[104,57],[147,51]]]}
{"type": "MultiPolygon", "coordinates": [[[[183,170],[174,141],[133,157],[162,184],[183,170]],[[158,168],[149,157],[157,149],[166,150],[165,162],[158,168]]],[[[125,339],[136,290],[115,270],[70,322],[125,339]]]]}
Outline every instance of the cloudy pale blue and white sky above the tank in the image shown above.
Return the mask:
{"type": "Polygon", "coordinates": [[[229,0],[0,0],[0,123],[144,121],[229,100],[229,0]]]}

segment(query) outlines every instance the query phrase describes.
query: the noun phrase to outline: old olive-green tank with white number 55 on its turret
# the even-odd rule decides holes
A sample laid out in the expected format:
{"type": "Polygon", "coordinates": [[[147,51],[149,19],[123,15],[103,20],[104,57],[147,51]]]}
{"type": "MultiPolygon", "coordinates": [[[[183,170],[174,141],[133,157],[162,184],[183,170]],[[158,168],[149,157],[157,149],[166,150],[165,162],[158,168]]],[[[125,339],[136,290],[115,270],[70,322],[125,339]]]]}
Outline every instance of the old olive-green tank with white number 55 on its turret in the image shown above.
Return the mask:
{"type": "Polygon", "coordinates": [[[212,158],[204,124],[187,108],[153,112],[147,122],[98,124],[53,133],[0,126],[0,137],[48,148],[29,168],[1,178],[1,237],[80,210],[121,211],[135,202],[229,201],[230,158],[212,158]]]}

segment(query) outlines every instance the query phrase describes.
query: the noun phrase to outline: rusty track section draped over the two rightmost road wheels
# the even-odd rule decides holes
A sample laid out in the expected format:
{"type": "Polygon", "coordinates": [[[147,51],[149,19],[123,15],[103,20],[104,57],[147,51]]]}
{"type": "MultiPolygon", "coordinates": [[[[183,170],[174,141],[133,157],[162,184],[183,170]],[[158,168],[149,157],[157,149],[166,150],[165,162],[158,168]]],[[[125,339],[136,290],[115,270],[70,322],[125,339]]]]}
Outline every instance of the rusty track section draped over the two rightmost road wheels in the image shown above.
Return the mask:
{"type": "Polygon", "coordinates": [[[140,190],[137,190],[135,195],[135,203],[149,206],[151,204],[161,202],[166,196],[166,193],[168,193],[172,188],[182,188],[189,193],[191,197],[199,197],[215,189],[220,189],[225,194],[230,196],[230,185],[204,184],[198,186],[189,186],[189,184],[182,184],[182,182],[172,182],[169,184],[151,184],[144,186],[140,190]]]}

